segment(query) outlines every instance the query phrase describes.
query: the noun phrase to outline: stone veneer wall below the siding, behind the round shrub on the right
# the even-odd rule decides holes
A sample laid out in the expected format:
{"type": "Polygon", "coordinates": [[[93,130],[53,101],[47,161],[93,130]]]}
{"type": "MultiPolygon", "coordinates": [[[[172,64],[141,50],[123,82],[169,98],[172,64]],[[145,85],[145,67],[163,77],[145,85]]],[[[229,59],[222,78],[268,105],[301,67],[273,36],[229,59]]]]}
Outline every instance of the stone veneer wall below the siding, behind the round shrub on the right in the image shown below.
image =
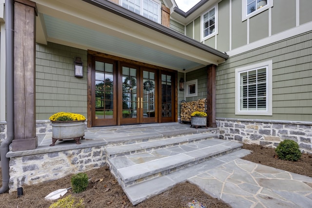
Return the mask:
{"type": "Polygon", "coordinates": [[[273,148],[291,139],[302,152],[312,153],[312,122],[216,118],[216,123],[222,139],[273,148]]]}

